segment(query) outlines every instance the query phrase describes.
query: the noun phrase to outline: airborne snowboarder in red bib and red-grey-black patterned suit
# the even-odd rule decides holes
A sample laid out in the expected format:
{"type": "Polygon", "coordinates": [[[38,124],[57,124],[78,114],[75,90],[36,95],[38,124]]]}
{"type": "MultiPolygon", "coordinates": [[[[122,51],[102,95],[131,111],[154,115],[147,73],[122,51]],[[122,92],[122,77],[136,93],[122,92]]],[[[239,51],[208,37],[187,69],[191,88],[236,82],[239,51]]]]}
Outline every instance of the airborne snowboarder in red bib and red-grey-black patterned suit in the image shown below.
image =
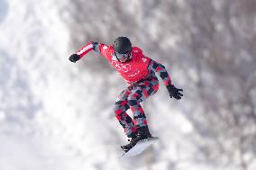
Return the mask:
{"type": "Polygon", "coordinates": [[[141,103],[159,89],[159,80],[155,76],[155,72],[162,78],[170,98],[181,99],[183,94],[180,92],[183,90],[171,84],[170,76],[163,65],[144,56],[142,49],[133,47],[127,37],[116,38],[113,45],[91,41],[79,49],[77,53],[72,54],[69,60],[77,62],[91,50],[95,50],[105,57],[129,84],[114,103],[115,117],[122,125],[128,141],[130,141],[129,144],[121,147],[123,151],[127,152],[138,141],[151,138],[141,103]],[[126,113],[128,109],[132,110],[133,119],[126,113]]]}

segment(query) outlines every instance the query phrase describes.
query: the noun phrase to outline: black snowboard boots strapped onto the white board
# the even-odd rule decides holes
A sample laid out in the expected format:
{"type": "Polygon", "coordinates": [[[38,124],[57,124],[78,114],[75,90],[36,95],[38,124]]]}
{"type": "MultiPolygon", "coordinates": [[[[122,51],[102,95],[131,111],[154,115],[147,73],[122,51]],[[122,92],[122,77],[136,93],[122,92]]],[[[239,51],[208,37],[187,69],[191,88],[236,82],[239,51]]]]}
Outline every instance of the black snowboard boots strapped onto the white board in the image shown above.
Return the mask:
{"type": "Polygon", "coordinates": [[[124,152],[128,152],[131,148],[133,148],[136,143],[142,139],[149,139],[151,138],[151,132],[148,128],[148,126],[143,126],[138,128],[138,133],[136,136],[133,136],[132,139],[128,139],[130,141],[129,144],[122,146],[121,148],[123,149],[124,152]]]}

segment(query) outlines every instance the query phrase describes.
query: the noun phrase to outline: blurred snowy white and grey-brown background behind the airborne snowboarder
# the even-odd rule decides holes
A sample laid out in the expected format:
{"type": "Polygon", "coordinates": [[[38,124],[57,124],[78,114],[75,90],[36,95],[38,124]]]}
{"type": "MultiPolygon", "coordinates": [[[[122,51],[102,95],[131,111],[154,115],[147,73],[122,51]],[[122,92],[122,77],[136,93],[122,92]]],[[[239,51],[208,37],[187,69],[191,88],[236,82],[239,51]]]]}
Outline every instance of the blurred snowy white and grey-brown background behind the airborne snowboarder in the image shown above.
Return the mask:
{"type": "Polygon", "coordinates": [[[0,169],[255,169],[256,5],[234,2],[0,0],[0,169]],[[184,89],[175,101],[161,84],[142,104],[161,140],[122,160],[125,83],[93,52],[68,59],[120,35],[184,89]]]}

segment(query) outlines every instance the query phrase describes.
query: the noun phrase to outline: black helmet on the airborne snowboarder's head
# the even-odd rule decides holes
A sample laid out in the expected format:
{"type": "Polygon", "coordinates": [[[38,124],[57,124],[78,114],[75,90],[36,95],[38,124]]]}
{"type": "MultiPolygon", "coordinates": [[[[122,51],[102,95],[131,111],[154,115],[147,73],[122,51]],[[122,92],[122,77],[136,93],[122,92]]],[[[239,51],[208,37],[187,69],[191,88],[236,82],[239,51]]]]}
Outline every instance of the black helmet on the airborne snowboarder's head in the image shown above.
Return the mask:
{"type": "Polygon", "coordinates": [[[118,37],[114,40],[114,51],[124,54],[132,50],[132,43],[127,37],[118,37]]]}

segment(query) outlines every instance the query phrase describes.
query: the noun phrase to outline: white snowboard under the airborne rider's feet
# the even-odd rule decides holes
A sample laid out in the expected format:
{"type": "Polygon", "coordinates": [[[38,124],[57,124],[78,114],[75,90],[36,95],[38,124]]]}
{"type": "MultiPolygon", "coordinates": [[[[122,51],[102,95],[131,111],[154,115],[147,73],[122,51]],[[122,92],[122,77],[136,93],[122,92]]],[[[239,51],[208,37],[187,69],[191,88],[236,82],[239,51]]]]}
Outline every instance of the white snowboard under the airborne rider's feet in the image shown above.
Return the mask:
{"type": "Polygon", "coordinates": [[[133,148],[131,148],[127,152],[124,152],[121,157],[133,157],[140,155],[146,148],[149,148],[152,144],[158,141],[158,139],[158,137],[142,139],[141,141],[138,141],[133,148]]]}

